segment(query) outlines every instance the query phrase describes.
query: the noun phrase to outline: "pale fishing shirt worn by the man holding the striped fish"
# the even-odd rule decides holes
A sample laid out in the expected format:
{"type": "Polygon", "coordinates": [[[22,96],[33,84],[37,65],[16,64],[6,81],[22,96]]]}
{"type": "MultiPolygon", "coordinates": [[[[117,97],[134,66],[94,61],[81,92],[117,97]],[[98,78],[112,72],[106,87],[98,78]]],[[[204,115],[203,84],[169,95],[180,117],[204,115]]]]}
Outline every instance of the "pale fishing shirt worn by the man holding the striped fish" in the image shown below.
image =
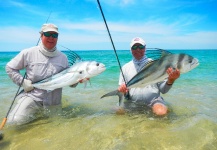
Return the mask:
{"type": "MultiPolygon", "coordinates": [[[[134,63],[133,60],[126,63],[122,67],[122,71],[123,71],[126,83],[129,82],[143,68],[143,66],[149,60],[150,60],[149,58],[146,58],[146,61],[142,62],[141,64],[134,63]]],[[[154,84],[154,85],[148,85],[144,88],[131,88],[129,90],[130,100],[136,103],[149,104],[152,100],[158,98],[160,96],[160,93],[164,94],[170,90],[172,86],[166,84],[166,81],[167,80],[161,83],[154,84]]],[[[125,82],[124,82],[122,73],[120,73],[119,85],[123,83],[125,82]]]]}

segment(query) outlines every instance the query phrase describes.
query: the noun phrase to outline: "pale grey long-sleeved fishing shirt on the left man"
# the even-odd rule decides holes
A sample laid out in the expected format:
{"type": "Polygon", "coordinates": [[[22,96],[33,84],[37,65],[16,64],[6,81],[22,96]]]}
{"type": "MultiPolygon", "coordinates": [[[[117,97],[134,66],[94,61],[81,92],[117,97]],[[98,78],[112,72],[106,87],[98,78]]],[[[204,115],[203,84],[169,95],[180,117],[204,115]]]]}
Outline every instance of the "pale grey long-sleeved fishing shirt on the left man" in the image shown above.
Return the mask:
{"type": "MultiPolygon", "coordinates": [[[[23,76],[20,70],[26,69],[27,79],[32,83],[59,73],[68,68],[68,59],[65,54],[56,50],[56,55],[49,57],[42,54],[41,45],[22,50],[6,65],[6,72],[17,85],[21,85],[23,76]]],[[[44,106],[61,104],[62,88],[46,91],[34,88],[32,91],[22,93],[35,101],[43,101],[44,106]]]]}

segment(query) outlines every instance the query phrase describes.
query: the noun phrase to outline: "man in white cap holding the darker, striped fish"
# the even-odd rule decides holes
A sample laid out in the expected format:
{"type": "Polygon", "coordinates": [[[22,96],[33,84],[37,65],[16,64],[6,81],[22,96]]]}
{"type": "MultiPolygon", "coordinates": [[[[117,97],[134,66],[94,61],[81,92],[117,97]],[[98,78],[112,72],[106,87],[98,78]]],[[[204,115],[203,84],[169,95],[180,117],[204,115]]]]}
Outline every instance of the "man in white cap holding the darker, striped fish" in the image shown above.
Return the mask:
{"type": "MultiPolygon", "coordinates": [[[[146,43],[142,38],[136,37],[132,39],[130,48],[133,60],[122,67],[126,82],[130,81],[130,79],[133,78],[133,76],[135,76],[149,60],[151,60],[145,56],[146,43]]],[[[168,108],[165,105],[163,98],[160,96],[160,93],[167,93],[175,80],[180,76],[180,72],[177,69],[173,70],[172,68],[168,68],[167,73],[169,75],[168,79],[161,83],[148,85],[144,88],[131,89],[126,87],[123,76],[120,74],[118,90],[124,94],[129,92],[129,100],[125,104],[128,104],[129,106],[130,104],[147,105],[152,109],[154,114],[158,116],[166,115],[168,108]]]]}

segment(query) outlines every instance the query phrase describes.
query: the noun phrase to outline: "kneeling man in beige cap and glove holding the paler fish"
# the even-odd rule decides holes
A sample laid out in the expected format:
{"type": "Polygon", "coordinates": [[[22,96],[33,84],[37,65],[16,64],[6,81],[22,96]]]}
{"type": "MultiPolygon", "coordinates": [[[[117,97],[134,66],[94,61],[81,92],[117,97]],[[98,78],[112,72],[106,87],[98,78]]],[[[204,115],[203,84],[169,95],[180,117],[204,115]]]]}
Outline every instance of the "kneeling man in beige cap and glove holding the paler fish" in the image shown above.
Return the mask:
{"type": "Polygon", "coordinates": [[[22,50],[6,65],[6,72],[12,81],[22,86],[24,91],[19,95],[15,108],[8,116],[8,123],[21,125],[36,119],[44,108],[61,109],[62,89],[45,91],[33,88],[32,83],[50,77],[68,68],[65,54],[56,48],[58,27],[54,24],[43,24],[41,43],[38,46],[22,50]],[[20,70],[26,69],[26,78],[20,70]]]}

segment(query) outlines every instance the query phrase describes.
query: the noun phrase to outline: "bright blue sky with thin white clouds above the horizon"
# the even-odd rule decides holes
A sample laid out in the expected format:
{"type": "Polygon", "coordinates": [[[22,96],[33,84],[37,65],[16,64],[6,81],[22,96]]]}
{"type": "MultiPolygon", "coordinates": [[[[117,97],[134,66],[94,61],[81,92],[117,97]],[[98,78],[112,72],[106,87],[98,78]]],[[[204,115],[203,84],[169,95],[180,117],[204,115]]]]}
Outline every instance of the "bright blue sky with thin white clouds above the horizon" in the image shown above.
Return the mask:
{"type": "MultiPolygon", "coordinates": [[[[116,50],[141,37],[149,48],[217,49],[217,0],[100,0],[116,50]]],[[[113,50],[97,0],[0,0],[0,51],[37,45],[42,24],[64,50],[113,50]]]]}

